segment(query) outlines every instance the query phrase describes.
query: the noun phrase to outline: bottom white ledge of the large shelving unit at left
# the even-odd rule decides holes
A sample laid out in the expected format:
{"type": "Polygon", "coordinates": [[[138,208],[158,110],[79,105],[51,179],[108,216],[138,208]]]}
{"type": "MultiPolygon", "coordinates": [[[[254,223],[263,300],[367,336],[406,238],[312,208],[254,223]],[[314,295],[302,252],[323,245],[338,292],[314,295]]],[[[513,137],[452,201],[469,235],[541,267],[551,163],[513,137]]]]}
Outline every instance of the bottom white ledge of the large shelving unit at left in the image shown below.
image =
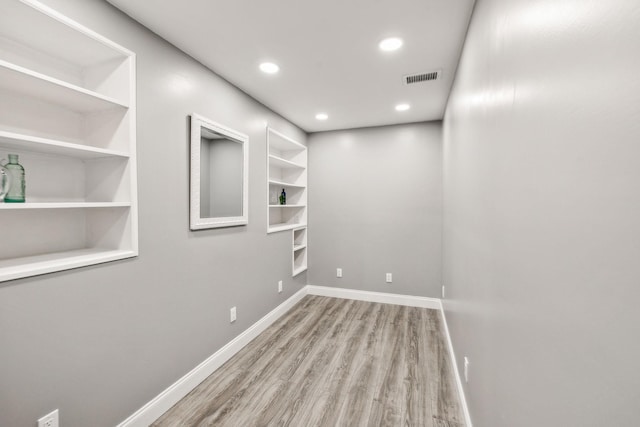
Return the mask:
{"type": "Polygon", "coordinates": [[[136,255],[137,252],[133,250],[105,251],[104,249],[94,248],[0,260],[0,282],[131,258],[136,255]]]}

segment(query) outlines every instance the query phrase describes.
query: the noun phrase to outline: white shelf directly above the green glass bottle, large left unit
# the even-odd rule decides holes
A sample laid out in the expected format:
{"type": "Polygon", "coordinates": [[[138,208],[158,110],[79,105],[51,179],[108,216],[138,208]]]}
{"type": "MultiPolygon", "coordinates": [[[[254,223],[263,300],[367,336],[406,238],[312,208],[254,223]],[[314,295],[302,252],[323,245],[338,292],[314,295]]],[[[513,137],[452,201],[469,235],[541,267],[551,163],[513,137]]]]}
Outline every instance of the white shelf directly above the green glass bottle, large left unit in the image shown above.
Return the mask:
{"type": "Polygon", "coordinates": [[[88,145],[74,144],[32,135],[6,132],[0,130],[0,148],[18,151],[32,151],[35,153],[53,154],[74,157],[77,159],[98,159],[101,157],[128,158],[127,153],[88,145]]]}

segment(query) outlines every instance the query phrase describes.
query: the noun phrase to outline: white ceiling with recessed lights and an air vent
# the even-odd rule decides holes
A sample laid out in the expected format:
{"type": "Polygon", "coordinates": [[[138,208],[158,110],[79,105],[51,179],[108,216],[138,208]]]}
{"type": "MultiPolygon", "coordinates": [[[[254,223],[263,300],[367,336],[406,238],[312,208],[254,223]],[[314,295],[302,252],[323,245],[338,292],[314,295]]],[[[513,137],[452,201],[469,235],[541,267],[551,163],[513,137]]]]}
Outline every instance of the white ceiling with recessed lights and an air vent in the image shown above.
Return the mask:
{"type": "Polygon", "coordinates": [[[307,132],[443,118],[474,0],[108,0],[307,132]],[[378,43],[404,44],[383,52],[378,43]],[[262,62],[280,71],[265,74],[262,62]],[[442,70],[436,81],[403,76],[442,70]],[[398,112],[395,106],[411,108],[398,112]],[[319,121],[317,113],[329,118],[319,121]]]}

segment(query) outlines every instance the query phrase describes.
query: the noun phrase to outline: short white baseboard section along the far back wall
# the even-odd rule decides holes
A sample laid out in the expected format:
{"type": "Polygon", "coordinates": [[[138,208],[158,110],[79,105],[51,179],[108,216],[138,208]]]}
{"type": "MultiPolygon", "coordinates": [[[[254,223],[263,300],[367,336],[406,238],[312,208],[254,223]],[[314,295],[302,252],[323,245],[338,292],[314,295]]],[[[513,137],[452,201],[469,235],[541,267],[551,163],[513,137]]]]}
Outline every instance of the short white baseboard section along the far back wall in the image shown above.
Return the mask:
{"type": "Polygon", "coordinates": [[[309,295],[355,299],[359,301],[380,302],[383,304],[406,305],[409,307],[433,308],[442,310],[437,298],[416,297],[412,295],[387,294],[383,292],[359,291],[356,289],[332,288],[327,286],[307,285],[309,295]]]}

